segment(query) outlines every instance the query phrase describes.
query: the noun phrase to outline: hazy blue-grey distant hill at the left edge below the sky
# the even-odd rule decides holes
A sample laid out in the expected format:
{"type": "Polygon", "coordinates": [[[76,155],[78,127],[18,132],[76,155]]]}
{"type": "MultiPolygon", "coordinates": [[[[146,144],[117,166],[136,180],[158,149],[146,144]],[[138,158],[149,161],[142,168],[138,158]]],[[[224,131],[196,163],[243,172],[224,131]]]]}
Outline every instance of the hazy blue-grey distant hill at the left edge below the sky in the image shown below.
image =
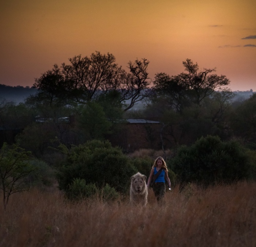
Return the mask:
{"type": "Polygon", "coordinates": [[[0,98],[4,98],[8,101],[13,101],[16,104],[24,102],[25,99],[37,93],[37,89],[34,87],[22,87],[22,86],[6,86],[0,84],[0,98]]]}

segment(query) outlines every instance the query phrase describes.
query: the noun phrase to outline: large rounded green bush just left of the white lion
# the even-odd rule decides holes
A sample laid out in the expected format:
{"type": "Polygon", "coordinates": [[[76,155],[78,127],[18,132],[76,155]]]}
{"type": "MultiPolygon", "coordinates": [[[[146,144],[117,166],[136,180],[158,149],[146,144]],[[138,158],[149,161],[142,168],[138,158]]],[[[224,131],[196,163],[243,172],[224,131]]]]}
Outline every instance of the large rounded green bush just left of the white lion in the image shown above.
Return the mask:
{"type": "Polygon", "coordinates": [[[106,184],[117,192],[128,190],[130,178],[136,168],[120,148],[109,141],[88,141],[72,147],[57,175],[60,189],[67,190],[75,178],[85,179],[98,188],[106,184]]]}

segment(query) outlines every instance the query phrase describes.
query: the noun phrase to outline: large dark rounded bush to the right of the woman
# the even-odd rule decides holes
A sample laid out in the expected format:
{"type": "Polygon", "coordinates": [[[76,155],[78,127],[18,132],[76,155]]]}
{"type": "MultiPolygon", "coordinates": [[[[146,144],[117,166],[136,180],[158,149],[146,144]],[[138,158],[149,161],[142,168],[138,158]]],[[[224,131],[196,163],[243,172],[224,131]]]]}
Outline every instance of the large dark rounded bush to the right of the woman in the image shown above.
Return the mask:
{"type": "Polygon", "coordinates": [[[171,166],[180,182],[211,185],[252,178],[246,149],[237,141],[222,142],[217,136],[202,137],[190,147],[180,147],[171,166]]]}

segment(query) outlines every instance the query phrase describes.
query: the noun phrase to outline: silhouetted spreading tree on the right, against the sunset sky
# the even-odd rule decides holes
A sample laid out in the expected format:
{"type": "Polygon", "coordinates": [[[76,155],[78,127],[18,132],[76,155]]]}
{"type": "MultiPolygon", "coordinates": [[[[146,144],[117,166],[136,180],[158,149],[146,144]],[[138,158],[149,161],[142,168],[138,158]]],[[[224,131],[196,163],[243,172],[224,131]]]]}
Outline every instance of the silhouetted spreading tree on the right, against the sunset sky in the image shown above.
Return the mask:
{"type": "Polygon", "coordinates": [[[226,76],[210,75],[216,71],[216,68],[199,71],[197,63],[194,64],[190,59],[182,63],[188,73],[177,76],[158,73],[154,80],[157,92],[170,96],[169,104],[173,109],[181,110],[182,106],[188,106],[191,103],[200,104],[204,98],[214,91],[222,90],[223,86],[230,83],[226,76]]]}

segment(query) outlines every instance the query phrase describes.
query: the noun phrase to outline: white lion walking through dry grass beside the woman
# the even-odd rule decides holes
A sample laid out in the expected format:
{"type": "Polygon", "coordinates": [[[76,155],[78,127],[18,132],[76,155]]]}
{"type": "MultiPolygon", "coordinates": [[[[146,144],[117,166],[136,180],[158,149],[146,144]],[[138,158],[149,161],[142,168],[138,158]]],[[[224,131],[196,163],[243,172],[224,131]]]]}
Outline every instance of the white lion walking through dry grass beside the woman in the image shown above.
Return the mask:
{"type": "Polygon", "coordinates": [[[142,175],[140,172],[131,176],[131,187],[130,187],[130,202],[135,204],[146,205],[147,204],[147,177],[142,175]]]}

